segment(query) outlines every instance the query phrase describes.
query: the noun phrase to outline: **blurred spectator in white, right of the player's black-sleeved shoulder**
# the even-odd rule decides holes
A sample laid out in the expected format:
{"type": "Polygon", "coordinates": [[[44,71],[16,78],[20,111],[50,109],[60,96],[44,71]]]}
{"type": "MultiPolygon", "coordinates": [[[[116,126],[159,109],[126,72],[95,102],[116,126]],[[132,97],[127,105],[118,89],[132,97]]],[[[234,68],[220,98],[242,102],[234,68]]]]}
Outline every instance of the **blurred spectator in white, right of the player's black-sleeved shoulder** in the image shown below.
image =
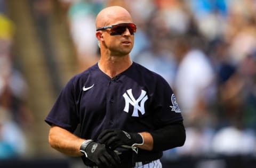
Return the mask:
{"type": "Polygon", "coordinates": [[[180,55],[174,90],[187,125],[206,127],[211,125],[208,104],[214,100],[215,72],[209,58],[202,51],[199,36],[181,40],[187,51],[180,55]],[[188,42],[189,41],[189,42],[188,42]]]}

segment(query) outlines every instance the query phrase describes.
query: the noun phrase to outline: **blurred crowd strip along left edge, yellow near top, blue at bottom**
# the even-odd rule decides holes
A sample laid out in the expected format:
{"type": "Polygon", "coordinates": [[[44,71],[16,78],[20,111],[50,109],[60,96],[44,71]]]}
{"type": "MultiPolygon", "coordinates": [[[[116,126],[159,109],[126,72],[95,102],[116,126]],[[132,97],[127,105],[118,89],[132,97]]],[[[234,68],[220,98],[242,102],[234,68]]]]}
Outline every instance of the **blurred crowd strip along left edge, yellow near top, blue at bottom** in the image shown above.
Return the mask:
{"type": "Polygon", "coordinates": [[[25,154],[25,130],[33,120],[27,106],[27,83],[15,64],[15,29],[0,1],[0,160],[25,154]]]}

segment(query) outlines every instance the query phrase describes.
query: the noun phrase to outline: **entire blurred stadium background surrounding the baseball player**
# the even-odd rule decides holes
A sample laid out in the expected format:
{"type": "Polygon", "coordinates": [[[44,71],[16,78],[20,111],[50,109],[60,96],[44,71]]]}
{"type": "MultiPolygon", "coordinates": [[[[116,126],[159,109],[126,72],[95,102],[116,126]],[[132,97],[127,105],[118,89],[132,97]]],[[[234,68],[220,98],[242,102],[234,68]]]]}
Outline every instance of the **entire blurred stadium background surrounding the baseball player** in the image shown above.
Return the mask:
{"type": "Polygon", "coordinates": [[[99,60],[94,19],[111,5],[131,12],[132,60],[170,83],[184,117],[163,166],[255,167],[255,0],[0,0],[0,167],[83,167],[49,146],[44,119],[99,60]]]}

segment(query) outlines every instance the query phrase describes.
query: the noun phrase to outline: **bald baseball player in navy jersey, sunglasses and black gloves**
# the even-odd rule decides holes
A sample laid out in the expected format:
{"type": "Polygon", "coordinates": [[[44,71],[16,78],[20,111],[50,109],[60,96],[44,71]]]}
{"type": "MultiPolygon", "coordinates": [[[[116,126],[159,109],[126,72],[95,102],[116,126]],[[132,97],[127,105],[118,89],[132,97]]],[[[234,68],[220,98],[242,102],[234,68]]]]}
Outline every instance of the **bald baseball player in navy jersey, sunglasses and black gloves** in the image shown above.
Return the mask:
{"type": "Polygon", "coordinates": [[[100,60],[62,89],[45,121],[51,147],[87,167],[162,167],[163,150],[182,146],[183,119],[168,83],[132,62],[136,25],[120,6],[99,12],[100,60]],[[74,135],[80,125],[79,137],[74,135]]]}

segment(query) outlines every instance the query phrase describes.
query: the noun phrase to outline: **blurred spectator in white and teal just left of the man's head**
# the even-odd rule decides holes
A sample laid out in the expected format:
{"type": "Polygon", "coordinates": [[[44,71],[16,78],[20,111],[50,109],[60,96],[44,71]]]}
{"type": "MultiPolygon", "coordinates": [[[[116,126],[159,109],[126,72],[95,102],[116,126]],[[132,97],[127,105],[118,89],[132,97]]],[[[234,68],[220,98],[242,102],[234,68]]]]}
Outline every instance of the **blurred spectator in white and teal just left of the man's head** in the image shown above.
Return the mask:
{"type": "Polygon", "coordinates": [[[98,59],[97,38],[95,38],[95,17],[103,7],[103,1],[70,0],[68,4],[68,24],[76,49],[79,71],[85,70],[98,59]]]}

